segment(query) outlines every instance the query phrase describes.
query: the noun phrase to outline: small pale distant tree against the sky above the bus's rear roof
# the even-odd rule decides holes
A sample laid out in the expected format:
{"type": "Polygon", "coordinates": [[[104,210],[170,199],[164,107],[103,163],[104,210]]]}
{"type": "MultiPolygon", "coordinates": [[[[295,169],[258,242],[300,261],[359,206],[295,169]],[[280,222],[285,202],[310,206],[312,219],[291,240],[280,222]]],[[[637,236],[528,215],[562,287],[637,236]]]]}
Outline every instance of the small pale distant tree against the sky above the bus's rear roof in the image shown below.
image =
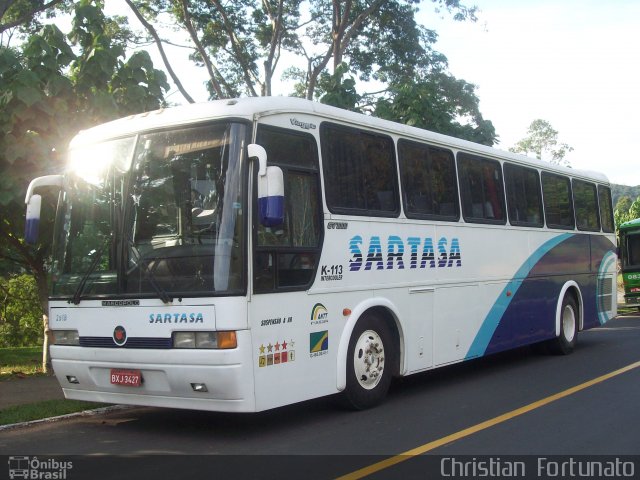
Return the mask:
{"type": "Polygon", "coordinates": [[[527,136],[511,147],[509,151],[525,155],[533,153],[538,160],[569,166],[569,162],[564,157],[573,151],[573,147],[558,141],[558,131],[548,121],[537,119],[529,125],[527,136]]]}

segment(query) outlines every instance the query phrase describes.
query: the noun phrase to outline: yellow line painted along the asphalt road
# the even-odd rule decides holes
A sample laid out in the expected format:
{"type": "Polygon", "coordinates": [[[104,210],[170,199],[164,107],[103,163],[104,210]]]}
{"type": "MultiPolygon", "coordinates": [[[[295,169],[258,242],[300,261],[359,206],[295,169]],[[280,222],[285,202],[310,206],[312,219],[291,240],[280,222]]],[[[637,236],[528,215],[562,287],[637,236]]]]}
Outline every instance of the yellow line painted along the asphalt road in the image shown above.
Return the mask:
{"type": "Polygon", "coordinates": [[[556,400],[560,400],[561,398],[568,397],[569,395],[573,395],[574,393],[585,390],[589,387],[597,385],[598,383],[602,383],[605,380],[609,380],[610,378],[617,377],[618,375],[622,375],[630,370],[640,367],[640,361],[627,365],[626,367],[622,367],[613,372],[602,375],[598,378],[594,378],[593,380],[589,380],[588,382],[581,383],[580,385],[576,385],[575,387],[571,387],[562,392],[556,393],[555,395],[551,395],[550,397],[543,398],[542,400],[538,400],[537,402],[530,403],[529,405],[525,405],[524,407],[517,408],[505,414],[499,415],[490,420],[486,420],[482,423],[478,423],[469,428],[465,428],[464,430],[460,430],[459,432],[452,433],[451,435],[447,435],[446,437],[439,438],[438,440],[434,440],[433,442],[425,443],[419,447],[413,448],[411,450],[407,450],[399,455],[394,457],[387,458],[386,460],[382,460],[381,462],[374,463],[373,465],[369,465],[368,467],[361,468],[360,470],[356,470],[355,472],[348,473],[339,477],[337,480],[357,480],[359,478],[364,478],[369,475],[372,475],[376,472],[384,470],[385,468],[392,467],[397,465],[398,463],[402,463],[406,460],[410,460],[411,458],[422,455],[424,453],[430,452],[438,447],[446,445],[451,442],[455,442],[456,440],[460,440],[461,438],[468,437],[473,435],[474,433],[480,432],[487,428],[493,427],[500,423],[506,422],[507,420],[511,420],[512,418],[519,417],[520,415],[524,415],[525,413],[531,412],[537,408],[544,407],[550,403],[555,402],[556,400]]]}

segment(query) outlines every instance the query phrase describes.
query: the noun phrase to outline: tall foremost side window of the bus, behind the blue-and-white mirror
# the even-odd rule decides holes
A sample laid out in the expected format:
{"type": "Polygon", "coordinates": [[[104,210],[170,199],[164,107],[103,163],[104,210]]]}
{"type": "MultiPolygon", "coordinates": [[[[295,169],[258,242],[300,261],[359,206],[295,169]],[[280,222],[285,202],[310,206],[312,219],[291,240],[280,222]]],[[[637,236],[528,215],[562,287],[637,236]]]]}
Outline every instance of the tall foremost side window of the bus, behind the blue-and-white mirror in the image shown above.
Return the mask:
{"type": "Polygon", "coordinates": [[[254,291],[306,289],[315,275],[322,238],[315,138],[261,125],[256,143],[266,150],[269,164],[282,169],[286,203],[282,225],[269,228],[254,222],[254,291]]]}

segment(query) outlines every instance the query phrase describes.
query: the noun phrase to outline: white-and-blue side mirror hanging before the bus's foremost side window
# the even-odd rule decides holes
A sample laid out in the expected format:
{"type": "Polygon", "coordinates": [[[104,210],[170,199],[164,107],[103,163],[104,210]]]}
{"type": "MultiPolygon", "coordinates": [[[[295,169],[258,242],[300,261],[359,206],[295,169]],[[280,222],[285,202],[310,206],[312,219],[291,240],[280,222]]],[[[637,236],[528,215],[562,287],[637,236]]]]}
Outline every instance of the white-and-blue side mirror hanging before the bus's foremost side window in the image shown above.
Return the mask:
{"type": "Polygon", "coordinates": [[[260,145],[248,146],[249,159],[258,160],[258,216],[265,227],[284,223],[284,175],[280,167],[267,166],[267,152],[260,145]]]}

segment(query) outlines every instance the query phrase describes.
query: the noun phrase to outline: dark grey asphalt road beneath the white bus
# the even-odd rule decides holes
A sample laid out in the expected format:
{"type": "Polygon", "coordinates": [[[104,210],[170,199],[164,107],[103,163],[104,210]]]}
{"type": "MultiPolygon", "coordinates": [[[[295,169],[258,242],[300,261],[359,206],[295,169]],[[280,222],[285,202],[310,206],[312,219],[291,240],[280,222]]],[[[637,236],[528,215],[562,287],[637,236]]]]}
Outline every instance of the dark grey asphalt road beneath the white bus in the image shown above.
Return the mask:
{"type": "MultiPolygon", "coordinates": [[[[394,457],[407,452],[639,455],[639,361],[640,317],[623,317],[581,333],[570,356],[525,348],[402,379],[369,411],[342,410],[332,398],[258,414],[135,408],[0,432],[0,455],[107,455],[74,457],[78,474],[104,478],[118,464],[110,455],[126,465],[122,478],[182,477],[210,462],[247,474],[238,478],[292,478],[297,468],[334,478],[389,458],[397,465],[378,465],[370,478],[397,478],[417,465],[394,457]]],[[[640,462],[635,468],[640,477],[640,462]]]]}

